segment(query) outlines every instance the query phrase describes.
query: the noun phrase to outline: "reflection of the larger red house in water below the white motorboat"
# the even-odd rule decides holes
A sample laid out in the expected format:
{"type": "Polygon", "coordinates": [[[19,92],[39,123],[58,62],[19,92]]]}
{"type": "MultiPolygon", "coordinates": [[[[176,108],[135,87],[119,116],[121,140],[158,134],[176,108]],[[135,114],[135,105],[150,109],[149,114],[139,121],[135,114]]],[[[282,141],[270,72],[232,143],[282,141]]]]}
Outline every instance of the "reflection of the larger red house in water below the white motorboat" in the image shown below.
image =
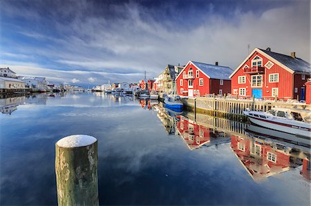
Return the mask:
{"type": "Polygon", "coordinates": [[[255,180],[305,165],[301,174],[310,180],[310,153],[305,147],[291,147],[280,141],[251,136],[231,136],[231,147],[238,161],[255,180]],[[308,165],[309,164],[309,165],[308,165]]]}

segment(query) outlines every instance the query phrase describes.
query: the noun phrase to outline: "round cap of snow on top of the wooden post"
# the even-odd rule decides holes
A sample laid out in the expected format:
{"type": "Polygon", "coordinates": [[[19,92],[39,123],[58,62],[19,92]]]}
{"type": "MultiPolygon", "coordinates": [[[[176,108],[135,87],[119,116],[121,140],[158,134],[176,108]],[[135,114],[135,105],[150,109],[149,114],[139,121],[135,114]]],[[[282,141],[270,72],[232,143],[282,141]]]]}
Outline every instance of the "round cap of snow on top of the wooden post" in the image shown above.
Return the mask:
{"type": "Polygon", "coordinates": [[[84,134],[77,134],[66,136],[57,141],[59,147],[73,148],[73,147],[85,147],[95,143],[97,139],[93,136],[84,134]]]}

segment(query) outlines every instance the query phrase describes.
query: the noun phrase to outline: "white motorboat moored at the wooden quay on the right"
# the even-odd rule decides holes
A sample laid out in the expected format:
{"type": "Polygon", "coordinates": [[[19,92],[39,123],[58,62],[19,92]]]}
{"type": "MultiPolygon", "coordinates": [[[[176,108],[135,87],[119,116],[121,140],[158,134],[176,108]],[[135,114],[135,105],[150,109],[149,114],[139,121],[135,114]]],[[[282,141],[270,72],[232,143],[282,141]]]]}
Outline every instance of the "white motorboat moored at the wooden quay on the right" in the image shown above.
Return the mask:
{"type": "Polygon", "coordinates": [[[243,112],[255,125],[301,136],[311,141],[311,111],[292,108],[274,108],[267,112],[243,112]],[[302,117],[304,116],[304,118],[302,117]]]}

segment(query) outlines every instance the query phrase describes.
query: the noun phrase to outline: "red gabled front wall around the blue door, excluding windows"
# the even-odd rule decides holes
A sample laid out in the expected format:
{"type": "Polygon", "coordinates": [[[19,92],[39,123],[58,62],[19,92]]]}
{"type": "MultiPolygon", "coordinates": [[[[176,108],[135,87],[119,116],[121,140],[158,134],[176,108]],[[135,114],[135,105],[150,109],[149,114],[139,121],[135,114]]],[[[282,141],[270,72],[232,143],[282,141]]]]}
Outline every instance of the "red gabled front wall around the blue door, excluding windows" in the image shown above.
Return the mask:
{"type": "MultiPolygon", "coordinates": [[[[251,87],[251,75],[250,74],[244,74],[244,66],[248,65],[249,68],[252,67],[252,59],[258,55],[261,58],[263,58],[262,65],[264,66],[267,61],[269,61],[265,56],[259,54],[258,52],[254,52],[252,56],[239,68],[238,72],[236,72],[232,78],[231,78],[231,90],[232,94],[234,94],[234,89],[237,89],[239,87],[245,87],[246,88],[246,96],[252,96],[252,87],[251,87]],[[246,83],[238,84],[238,76],[246,76],[246,83]]],[[[271,61],[271,60],[270,60],[271,61]]],[[[285,99],[292,99],[293,98],[293,91],[294,91],[294,76],[287,70],[283,69],[281,66],[276,65],[274,61],[271,61],[274,63],[272,68],[267,69],[265,68],[265,74],[263,74],[263,98],[274,98],[272,96],[272,87],[279,87],[279,98],[285,98],[285,99]],[[279,73],[279,83],[269,83],[269,74],[273,73],[279,73]]],[[[258,88],[258,87],[256,87],[258,88]]]]}

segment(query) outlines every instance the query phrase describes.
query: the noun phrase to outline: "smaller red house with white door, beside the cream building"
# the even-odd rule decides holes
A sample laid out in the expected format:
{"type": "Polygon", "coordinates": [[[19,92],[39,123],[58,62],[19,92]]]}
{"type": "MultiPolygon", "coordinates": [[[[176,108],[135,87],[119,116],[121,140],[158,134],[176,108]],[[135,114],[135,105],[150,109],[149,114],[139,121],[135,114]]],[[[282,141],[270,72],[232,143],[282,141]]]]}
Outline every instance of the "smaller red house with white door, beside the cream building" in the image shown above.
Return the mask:
{"type": "Polygon", "coordinates": [[[189,61],[176,77],[177,93],[182,96],[225,94],[231,92],[229,75],[232,69],[189,61]]]}

